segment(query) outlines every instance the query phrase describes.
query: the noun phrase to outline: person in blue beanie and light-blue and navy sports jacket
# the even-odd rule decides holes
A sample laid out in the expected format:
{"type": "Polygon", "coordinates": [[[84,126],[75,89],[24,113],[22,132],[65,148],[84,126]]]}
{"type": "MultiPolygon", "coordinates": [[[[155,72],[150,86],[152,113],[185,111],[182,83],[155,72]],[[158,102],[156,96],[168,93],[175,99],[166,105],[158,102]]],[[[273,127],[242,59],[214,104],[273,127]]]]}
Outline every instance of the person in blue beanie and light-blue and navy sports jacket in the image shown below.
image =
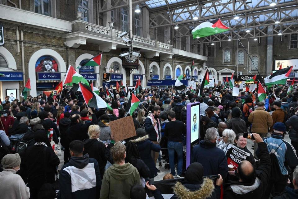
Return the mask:
{"type": "MultiPolygon", "coordinates": [[[[272,187],[274,185],[274,194],[279,194],[284,191],[288,182],[288,170],[287,167],[290,168],[291,171],[295,169],[298,165],[298,158],[295,152],[294,147],[287,141],[283,139],[283,133],[286,131],[286,125],[281,122],[277,122],[273,125],[273,133],[271,137],[263,138],[264,143],[267,144],[267,149],[269,153],[273,153],[276,155],[278,160],[279,169],[281,174],[279,176],[278,182],[272,177],[269,179],[268,186],[263,195],[263,198],[269,198],[269,195],[272,191],[272,187]],[[286,166],[287,165],[287,166],[286,166]]],[[[259,153],[259,150],[256,152],[259,153]]],[[[272,168],[277,165],[272,165],[272,168]]]]}

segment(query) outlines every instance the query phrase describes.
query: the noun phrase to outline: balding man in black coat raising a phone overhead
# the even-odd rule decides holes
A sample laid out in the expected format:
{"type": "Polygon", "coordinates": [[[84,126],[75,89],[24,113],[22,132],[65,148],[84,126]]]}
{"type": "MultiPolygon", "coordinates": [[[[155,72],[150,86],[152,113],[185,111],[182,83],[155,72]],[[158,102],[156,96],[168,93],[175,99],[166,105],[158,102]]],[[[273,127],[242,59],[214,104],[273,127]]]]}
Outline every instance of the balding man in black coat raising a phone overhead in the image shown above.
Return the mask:
{"type": "Polygon", "coordinates": [[[262,198],[269,182],[271,161],[266,143],[257,133],[252,133],[258,143],[260,165],[257,169],[249,161],[242,161],[238,167],[239,182],[224,184],[224,199],[262,198]]]}

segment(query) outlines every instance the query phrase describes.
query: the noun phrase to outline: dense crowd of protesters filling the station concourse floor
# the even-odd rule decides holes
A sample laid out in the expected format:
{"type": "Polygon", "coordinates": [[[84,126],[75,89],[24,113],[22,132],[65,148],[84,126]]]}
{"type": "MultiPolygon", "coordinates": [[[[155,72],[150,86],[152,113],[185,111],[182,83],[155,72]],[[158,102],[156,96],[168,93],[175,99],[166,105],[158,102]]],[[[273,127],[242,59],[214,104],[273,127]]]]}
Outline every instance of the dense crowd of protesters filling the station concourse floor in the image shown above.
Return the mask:
{"type": "Polygon", "coordinates": [[[152,183],[162,163],[170,169],[164,183],[175,182],[172,199],[298,198],[298,89],[287,94],[287,87],[269,88],[265,102],[256,92],[234,97],[224,86],[206,88],[202,96],[188,88],[100,88],[112,109],[88,107],[81,92],[66,87],[57,99],[7,96],[0,118],[0,198],[145,199],[151,192],[162,199],[163,190],[152,183]],[[115,142],[110,122],[129,115],[127,92],[140,101],[132,114],[136,136],[115,142]],[[199,140],[186,168],[186,107],[192,102],[200,102],[193,118],[198,126],[191,127],[199,140]],[[235,150],[247,158],[231,168],[235,150]]]}

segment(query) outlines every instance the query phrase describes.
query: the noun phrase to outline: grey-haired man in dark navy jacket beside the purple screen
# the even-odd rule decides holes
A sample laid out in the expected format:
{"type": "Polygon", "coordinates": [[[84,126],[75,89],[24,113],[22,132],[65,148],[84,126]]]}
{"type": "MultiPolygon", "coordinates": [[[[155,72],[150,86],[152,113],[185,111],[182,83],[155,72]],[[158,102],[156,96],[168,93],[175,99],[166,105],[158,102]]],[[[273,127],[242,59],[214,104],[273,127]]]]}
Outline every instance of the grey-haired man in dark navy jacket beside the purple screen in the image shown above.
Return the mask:
{"type": "Polygon", "coordinates": [[[203,165],[204,176],[221,174],[223,179],[228,175],[227,157],[223,150],[216,147],[217,129],[208,128],[204,140],[192,149],[192,160],[203,165]]]}

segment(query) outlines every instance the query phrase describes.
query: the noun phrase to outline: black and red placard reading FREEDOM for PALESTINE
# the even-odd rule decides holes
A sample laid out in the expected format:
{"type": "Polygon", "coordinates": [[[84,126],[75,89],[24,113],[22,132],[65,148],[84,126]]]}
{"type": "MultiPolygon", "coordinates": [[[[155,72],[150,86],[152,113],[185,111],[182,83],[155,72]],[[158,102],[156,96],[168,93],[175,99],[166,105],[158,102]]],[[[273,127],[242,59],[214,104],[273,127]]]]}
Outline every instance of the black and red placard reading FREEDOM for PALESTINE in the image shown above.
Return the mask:
{"type": "Polygon", "coordinates": [[[228,164],[233,164],[234,169],[236,170],[240,162],[242,162],[243,160],[247,160],[251,154],[239,149],[237,146],[234,145],[231,149],[227,152],[228,164]]]}

